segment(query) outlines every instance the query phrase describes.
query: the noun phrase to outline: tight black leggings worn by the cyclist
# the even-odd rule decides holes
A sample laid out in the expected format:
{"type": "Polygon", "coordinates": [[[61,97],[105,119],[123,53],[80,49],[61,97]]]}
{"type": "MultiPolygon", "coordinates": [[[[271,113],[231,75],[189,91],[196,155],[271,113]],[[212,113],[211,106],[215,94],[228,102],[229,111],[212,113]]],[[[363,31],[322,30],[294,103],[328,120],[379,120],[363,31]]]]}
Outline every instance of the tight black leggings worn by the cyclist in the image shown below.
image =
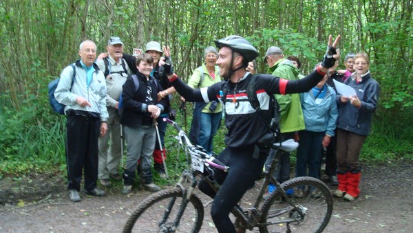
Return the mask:
{"type": "Polygon", "coordinates": [[[218,159],[229,166],[229,172],[217,170],[215,177],[222,183],[215,194],[206,181],[201,181],[199,188],[205,194],[213,197],[211,217],[218,232],[235,233],[235,227],[229,219],[229,213],[242,199],[248,188],[260,178],[262,167],[268,155],[268,150],[260,151],[258,159],[253,159],[253,148],[225,148],[218,159]]]}

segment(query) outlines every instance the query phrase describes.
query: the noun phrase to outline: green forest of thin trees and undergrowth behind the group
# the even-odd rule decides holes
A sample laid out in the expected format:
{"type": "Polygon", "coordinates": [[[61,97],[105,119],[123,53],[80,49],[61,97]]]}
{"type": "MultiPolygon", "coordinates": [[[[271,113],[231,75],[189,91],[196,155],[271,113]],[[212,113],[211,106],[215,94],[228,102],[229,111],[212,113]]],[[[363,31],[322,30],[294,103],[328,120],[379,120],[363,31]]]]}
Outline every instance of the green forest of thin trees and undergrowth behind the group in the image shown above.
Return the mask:
{"type": "MultiPolygon", "coordinates": [[[[0,179],[7,174],[65,171],[65,117],[52,112],[47,83],[78,59],[78,45],[110,36],[125,52],[148,41],[171,47],[176,73],[187,81],[203,62],[203,49],[231,34],[259,50],[277,45],[295,55],[308,74],[341,34],[340,67],[348,52],[370,55],[381,87],[372,135],[362,150],[368,162],[413,159],[412,1],[297,0],[3,0],[0,1],[0,179]]],[[[178,96],[173,99],[178,108],[178,96]]],[[[187,121],[191,123],[191,110],[187,121]]],[[[178,112],[178,121],[183,117],[178,112]]],[[[171,130],[171,129],[169,129],[171,130]]],[[[222,147],[224,129],[216,148],[222,147]]],[[[167,139],[167,147],[170,145],[167,139]]]]}

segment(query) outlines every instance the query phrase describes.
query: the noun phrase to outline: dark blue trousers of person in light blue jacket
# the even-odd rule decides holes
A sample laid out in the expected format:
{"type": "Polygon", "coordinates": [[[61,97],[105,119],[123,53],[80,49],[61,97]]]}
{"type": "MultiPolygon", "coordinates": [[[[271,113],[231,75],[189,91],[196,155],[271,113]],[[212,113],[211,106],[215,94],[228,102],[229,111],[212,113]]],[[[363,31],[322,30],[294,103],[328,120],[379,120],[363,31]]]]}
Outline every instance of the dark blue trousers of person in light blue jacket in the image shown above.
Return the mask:
{"type": "Polygon", "coordinates": [[[325,132],[299,131],[295,176],[308,176],[319,179],[322,141],[325,132]]]}

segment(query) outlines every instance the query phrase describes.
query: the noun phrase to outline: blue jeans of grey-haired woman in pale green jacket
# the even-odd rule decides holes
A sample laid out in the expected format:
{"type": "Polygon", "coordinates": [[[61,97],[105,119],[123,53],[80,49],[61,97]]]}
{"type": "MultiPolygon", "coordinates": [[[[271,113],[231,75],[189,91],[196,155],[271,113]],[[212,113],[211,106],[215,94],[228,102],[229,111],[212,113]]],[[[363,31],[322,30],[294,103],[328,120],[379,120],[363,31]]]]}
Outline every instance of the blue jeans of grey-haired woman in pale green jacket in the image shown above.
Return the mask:
{"type": "Polygon", "coordinates": [[[221,112],[205,113],[201,112],[200,117],[200,134],[198,135],[198,145],[202,146],[209,154],[213,149],[213,136],[220,128],[222,119],[221,112]]]}

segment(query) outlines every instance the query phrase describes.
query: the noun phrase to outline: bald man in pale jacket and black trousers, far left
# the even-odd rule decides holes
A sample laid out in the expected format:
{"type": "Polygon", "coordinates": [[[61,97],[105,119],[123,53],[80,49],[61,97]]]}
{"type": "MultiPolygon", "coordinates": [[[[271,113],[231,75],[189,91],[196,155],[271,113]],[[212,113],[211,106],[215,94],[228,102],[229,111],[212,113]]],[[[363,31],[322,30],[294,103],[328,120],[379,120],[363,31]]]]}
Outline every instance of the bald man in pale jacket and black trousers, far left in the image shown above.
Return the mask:
{"type": "Polygon", "coordinates": [[[109,117],[105,77],[94,63],[96,44],[93,41],[83,41],[79,45],[79,55],[81,59],[74,63],[74,69],[67,66],[63,70],[54,92],[56,100],[66,105],[67,188],[71,201],[81,201],[78,191],[83,171],[87,194],[105,195],[96,184],[98,137],[105,135],[109,117]]]}

